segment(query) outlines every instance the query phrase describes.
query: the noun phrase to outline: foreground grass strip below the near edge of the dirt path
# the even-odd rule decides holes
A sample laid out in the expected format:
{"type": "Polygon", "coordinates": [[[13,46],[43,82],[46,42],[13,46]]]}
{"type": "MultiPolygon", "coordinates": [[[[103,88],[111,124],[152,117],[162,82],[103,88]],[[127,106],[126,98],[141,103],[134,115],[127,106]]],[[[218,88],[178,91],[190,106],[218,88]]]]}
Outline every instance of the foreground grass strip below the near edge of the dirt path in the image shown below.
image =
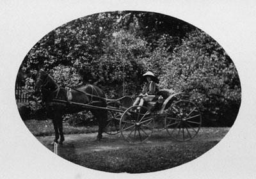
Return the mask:
{"type": "Polygon", "coordinates": [[[102,152],[61,155],[80,166],[111,173],[148,173],[170,169],[204,154],[218,141],[174,143],[163,146],[123,148],[102,152]]]}

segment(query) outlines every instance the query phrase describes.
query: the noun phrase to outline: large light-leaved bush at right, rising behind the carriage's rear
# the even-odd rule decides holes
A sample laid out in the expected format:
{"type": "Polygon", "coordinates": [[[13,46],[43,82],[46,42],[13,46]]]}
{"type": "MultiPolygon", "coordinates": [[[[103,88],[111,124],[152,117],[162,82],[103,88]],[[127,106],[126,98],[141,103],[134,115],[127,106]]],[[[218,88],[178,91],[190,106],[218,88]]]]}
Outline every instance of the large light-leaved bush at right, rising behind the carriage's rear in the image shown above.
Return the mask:
{"type": "Polygon", "coordinates": [[[236,119],[241,86],[235,65],[222,47],[200,30],[189,33],[174,49],[160,84],[189,93],[205,114],[219,119],[234,110],[235,115],[225,117],[228,125],[236,119]]]}

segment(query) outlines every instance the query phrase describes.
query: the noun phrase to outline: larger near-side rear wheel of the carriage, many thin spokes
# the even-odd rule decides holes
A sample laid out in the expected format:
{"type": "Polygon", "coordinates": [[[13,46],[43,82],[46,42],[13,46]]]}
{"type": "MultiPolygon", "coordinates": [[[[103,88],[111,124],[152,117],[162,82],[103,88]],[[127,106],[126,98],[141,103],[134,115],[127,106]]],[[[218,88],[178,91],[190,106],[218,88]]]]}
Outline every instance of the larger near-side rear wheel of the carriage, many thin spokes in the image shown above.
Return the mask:
{"type": "Polygon", "coordinates": [[[202,116],[193,102],[179,100],[164,111],[165,127],[173,139],[188,141],[193,139],[200,130],[202,116]]]}

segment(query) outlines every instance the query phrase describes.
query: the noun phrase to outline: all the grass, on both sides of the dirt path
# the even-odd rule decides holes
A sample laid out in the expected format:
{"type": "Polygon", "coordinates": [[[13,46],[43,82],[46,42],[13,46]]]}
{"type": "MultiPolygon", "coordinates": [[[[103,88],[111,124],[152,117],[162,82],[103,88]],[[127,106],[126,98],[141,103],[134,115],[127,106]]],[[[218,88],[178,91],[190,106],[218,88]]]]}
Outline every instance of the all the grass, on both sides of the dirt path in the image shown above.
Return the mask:
{"type": "MultiPolygon", "coordinates": [[[[54,129],[52,121],[24,121],[34,136],[52,136],[54,129]]],[[[83,134],[97,132],[97,126],[73,126],[63,122],[65,134],[83,134]]],[[[134,146],[116,150],[93,151],[76,153],[67,150],[58,154],[63,159],[80,166],[111,173],[148,173],[170,169],[196,159],[214,147],[219,141],[212,137],[224,137],[230,128],[209,127],[201,128],[195,140],[173,142],[155,146],[134,146]]]]}

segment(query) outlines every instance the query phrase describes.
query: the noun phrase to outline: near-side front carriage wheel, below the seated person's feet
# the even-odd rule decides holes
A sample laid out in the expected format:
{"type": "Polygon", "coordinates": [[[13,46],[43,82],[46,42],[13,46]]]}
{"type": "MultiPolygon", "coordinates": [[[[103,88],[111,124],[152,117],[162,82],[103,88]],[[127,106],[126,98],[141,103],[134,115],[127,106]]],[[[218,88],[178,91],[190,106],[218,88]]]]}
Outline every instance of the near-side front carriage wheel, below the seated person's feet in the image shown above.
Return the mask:
{"type": "Polygon", "coordinates": [[[143,143],[151,136],[154,130],[154,117],[147,109],[138,105],[129,107],[120,120],[120,130],[125,141],[129,143],[143,143]]]}

